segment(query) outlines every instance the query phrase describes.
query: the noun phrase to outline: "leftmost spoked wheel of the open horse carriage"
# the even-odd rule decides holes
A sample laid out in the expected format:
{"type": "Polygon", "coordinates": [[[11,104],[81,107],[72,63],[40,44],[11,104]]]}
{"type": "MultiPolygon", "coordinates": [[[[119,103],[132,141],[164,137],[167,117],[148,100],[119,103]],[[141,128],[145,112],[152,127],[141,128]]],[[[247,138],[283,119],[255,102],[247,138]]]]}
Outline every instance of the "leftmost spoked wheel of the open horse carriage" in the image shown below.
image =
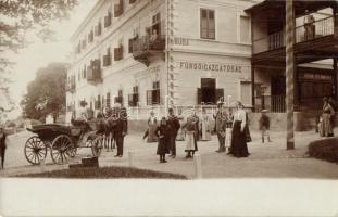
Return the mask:
{"type": "Polygon", "coordinates": [[[26,141],[24,152],[30,164],[38,165],[41,159],[46,159],[47,146],[39,137],[33,136],[26,141]]]}

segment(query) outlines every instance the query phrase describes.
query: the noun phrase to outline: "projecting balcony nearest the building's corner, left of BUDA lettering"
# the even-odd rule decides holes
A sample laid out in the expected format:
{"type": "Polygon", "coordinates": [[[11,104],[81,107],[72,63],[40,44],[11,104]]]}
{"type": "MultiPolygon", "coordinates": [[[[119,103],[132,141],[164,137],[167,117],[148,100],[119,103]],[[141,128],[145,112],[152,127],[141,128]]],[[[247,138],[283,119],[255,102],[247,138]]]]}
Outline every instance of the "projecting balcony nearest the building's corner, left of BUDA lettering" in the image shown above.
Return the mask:
{"type": "Polygon", "coordinates": [[[142,36],[141,38],[136,38],[133,42],[133,56],[136,61],[149,66],[151,56],[162,55],[164,59],[164,35],[142,36]]]}

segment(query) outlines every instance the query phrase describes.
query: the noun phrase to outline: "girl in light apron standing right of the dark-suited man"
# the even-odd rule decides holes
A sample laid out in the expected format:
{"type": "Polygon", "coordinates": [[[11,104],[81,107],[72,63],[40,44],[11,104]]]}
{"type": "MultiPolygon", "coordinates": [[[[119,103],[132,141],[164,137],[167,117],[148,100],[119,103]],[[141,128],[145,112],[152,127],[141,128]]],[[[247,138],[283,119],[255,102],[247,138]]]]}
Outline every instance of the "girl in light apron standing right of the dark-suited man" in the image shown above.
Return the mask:
{"type": "Polygon", "coordinates": [[[187,123],[183,126],[183,128],[186,130],[186,150],[187,153],[186,158],[192,158],[195,155],[195,152],[198,151],[197,146],[197,125],[196,123],[198,119],[195,117],[195,115],[191,115],[187,118],[187,123]]]}

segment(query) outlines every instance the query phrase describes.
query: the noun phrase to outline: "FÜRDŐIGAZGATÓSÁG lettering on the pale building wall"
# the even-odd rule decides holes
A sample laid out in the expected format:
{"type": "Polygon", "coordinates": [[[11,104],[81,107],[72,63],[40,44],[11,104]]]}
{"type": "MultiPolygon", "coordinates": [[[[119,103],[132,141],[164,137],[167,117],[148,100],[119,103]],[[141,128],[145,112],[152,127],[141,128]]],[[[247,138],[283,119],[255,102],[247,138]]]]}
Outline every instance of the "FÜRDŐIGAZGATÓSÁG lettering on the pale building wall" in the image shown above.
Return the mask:
{"type": "Polygon", "coordinates": [[[192,62],[178,62],[180,69],[189,71],[211,71],[211,72],[224,72],[224,73],[241,73],[242,66],[236,64],[225,63],[192,63],[192,62]]]}

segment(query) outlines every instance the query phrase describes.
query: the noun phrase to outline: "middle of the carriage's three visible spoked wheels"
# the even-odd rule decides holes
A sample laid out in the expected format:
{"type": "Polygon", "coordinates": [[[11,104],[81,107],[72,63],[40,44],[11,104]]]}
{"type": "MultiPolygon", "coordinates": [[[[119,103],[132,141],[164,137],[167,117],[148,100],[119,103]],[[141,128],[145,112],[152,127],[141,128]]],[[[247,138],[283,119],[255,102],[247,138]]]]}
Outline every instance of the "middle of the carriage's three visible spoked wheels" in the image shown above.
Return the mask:
{"type": "Polygon", "coordinates": [[[66,135],[58,136],[51,145],[50,155],[55,164],[65,164],[74,152],[72,139],[66,135]]]}

